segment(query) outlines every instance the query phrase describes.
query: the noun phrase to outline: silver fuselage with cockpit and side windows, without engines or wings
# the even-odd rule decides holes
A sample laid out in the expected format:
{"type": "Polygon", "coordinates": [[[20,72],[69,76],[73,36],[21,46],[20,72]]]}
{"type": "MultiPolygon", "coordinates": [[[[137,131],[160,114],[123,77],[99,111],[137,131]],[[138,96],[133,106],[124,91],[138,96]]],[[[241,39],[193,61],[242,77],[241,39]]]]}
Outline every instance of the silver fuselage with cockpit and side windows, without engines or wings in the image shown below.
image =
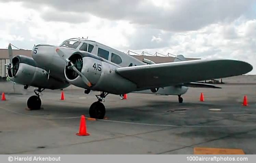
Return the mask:
{"type": "MultiPolygon", "coordinates": [[[[32,57],[38,66],[49,72],[50,76],[65,82],[67,81],[64,72],[66,62],[63,61],[63,59],[61,59],[61,57],[56,52],[57,48],[61,49],[61,51],[65,53],[65,58],[69,58],[74,52],[81,51],[89,52],[91,55],[99,56],[105,60],[108,60],[108,62],[114,63],[118,67],[138,66],[146,64],[124,52],[88,39],[68,39],[59,46],[47,44],[39,44],[34,46],[32,49],[32,57]]],[[[84,86],[84,88],[86,88],[86,86],[84,86]]],[[[160,88],[158,93],[166,95],[180,95],[186,93],[187,89],[188,88],[184,86],[169,86],[160,88]]],[[[138,88],[134,91],[140,91],[140,93],[143,93],[142,90],[143,89],[138,88]]],[[[155,92],[148,91],[145,91],[145,93],[156,94],[155,92]]]]}

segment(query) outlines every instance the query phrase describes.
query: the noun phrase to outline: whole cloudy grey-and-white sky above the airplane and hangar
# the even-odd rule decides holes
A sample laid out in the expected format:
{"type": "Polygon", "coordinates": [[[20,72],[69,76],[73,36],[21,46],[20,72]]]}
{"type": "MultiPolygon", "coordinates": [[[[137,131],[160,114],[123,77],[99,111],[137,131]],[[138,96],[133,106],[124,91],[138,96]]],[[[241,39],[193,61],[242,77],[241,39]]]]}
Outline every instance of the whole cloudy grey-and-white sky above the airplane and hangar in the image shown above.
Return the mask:
{"type": "Polygon", "coordinates": [[[256,74],[256,0],[0,0],[0,48],[87,37],[118,50],[227,58],[256,74]]]}

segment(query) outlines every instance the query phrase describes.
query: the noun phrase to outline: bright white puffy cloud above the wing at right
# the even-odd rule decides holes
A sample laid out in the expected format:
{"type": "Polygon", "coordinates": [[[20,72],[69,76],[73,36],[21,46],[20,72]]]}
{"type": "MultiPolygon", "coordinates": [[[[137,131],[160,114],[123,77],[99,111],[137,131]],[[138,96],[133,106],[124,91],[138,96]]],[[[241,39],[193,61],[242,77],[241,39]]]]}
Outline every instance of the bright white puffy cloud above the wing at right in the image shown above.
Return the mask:
{"type": "Polygon", "coordinates": [[[238,18],[228,24],[212,24],[197,31],[176,32],[168,46],[142,50],[163,54],[183,54],[193,58],[223,58],[246,61],[256,74],[256,19],[238,18]]]}

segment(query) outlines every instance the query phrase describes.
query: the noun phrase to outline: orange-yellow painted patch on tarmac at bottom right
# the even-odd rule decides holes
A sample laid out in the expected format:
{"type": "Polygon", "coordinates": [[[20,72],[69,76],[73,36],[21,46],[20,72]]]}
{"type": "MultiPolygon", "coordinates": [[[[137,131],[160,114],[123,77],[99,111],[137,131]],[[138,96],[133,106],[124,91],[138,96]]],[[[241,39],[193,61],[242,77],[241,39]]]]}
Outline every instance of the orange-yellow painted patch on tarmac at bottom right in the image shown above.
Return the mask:
{"type": "Polygon", "coordinates": [[[242,149],[195,147],[194,154],[245,154],[242,149]]]}

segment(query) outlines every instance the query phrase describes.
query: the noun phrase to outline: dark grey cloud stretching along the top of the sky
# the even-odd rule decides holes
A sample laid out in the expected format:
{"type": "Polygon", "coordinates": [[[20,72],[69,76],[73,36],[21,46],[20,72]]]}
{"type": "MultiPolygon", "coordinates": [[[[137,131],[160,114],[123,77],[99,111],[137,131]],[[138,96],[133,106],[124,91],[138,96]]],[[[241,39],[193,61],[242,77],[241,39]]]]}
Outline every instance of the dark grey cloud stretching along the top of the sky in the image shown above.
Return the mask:
{"type": "MultiPolygon", "coordinates": [[[[2,0],[8,2],[9,0],[2,0]]],[[[57,10],[53,20],[63,21],[60,14],[71,12],[80,17],[87,13],[109,20],[126,20],[137,25],[166,31],[191,31],[218,22],[233,20],[252,10],[253,0],[11,0],[23,2],[24,6],[43,10],[44,7],[57,10]]],[[[51,13],[51,12],[49,12],[51,13]]],[[[52,20],[49,14],[42,16],[52,20]]],[[[67,18],[67,22],[73,22],[67,18]]],[[[79,22],[77,19],[75,22],[79,22]]]]}

